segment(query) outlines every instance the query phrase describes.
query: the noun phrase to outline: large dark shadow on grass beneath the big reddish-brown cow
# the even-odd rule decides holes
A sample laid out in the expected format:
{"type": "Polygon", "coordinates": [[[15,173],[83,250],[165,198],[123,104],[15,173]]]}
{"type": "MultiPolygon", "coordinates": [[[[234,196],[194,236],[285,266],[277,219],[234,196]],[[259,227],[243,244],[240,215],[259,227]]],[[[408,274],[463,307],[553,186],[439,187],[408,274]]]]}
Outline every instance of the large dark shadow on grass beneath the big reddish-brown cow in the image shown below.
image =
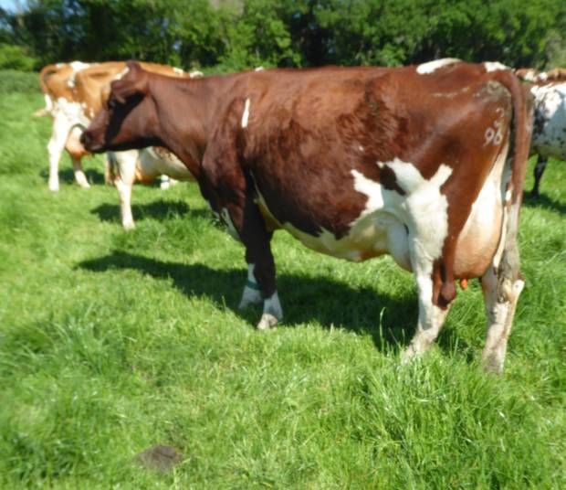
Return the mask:
{"type": "MultiPolygon", "coordinates": [[[[215,270],[202,264],[155,261],[140,255],[114,251],[106,257],[79,263],[92,272],[132,269],[157,279],[171,279],[187,296],[206,296],[226,304],[240,317],[255,325],[261,306],[239,311],[237,304],[246,282],[246,271],[215,270]]],[[[352,288],[329,277],[296,274],[278,276],[278,292],[285,313],[284,325],[293,326],[316,320],[326,328],[332,325],[372,336],[379,350],[406,346],[414,332],[418,315],[416,297],[395,298],[369,288],[352,288]],[[380,328],[381,316],[381,328],[380,328]]],[[[449,339],[442,342],[451,344],[449,339]]]]}

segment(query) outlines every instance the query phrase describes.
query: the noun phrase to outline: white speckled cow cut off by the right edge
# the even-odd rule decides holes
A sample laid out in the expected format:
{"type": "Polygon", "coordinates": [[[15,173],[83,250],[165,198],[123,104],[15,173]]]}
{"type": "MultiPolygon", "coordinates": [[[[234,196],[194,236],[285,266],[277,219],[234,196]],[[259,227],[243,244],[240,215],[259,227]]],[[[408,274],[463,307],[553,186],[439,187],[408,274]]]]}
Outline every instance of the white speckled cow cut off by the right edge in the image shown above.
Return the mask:
{"type": "Polygon", "coordinates": [[[529,81],[534,96],[535,119],[530,153],[537,154],[535,183],[531,194],[539,197],[540,179],[549,158],[566,161],[566,69],[518,69],[519,78],[529,81]]]}

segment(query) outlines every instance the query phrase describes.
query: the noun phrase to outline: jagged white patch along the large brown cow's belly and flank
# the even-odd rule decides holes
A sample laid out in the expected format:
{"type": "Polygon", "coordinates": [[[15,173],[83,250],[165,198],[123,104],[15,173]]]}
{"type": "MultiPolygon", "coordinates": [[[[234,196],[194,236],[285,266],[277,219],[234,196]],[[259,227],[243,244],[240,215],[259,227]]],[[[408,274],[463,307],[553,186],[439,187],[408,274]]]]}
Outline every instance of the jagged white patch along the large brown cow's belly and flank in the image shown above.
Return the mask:
{"type": "Polygon", "coordinates": [[[327,229],[313,236],[290,223],[280,223],[259,192],[257,205],[264,215],[309,249],[349,261],[390,253],[401,267],[412,271],[409,237],[413,237],[414,244],[432,260],[442,251],[447,233],[447,201],[440,187],[452,174],[452,169],[440,165],[435,176],[427,180],[413,164],[399,159],[377,165],[387,165],[393,170],[405,196],[352,170],[354,189],[368,200],[360,216],[351,222],[349,233],[339,240],[327,229]]]}

